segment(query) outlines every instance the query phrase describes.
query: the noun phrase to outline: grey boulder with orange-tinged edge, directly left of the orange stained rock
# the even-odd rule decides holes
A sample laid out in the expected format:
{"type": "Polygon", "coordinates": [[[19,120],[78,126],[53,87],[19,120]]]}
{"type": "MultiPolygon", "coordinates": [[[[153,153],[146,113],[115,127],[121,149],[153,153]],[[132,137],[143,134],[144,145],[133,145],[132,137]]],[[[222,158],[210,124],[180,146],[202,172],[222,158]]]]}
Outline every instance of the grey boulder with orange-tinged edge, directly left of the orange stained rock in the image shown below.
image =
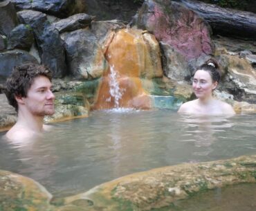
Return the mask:
{"type": "Polygon", "coordinates": [[[63,33],[69,73],[77,79],[102,76],[107,62],[97,39],[89,28],[63,33]]]}

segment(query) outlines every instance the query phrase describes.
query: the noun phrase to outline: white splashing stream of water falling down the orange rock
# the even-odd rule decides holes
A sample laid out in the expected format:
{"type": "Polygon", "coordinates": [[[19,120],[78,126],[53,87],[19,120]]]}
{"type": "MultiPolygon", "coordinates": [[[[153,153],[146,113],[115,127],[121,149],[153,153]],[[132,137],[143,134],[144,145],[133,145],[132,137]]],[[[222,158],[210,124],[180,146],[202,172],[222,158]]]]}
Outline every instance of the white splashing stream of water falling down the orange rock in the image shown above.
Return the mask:
{"type": "MultiPolygon", "coordinates": [[[[120,89],[118,82],[118,73],[114,66],[110,66],[110,80],[109,80],[109,93],[114,99],[114,107],[119,108],[119,100],[122,98],[122,89],[120,89]]],[[[110,100],[110,99],[109,99],[110,100]]]]}

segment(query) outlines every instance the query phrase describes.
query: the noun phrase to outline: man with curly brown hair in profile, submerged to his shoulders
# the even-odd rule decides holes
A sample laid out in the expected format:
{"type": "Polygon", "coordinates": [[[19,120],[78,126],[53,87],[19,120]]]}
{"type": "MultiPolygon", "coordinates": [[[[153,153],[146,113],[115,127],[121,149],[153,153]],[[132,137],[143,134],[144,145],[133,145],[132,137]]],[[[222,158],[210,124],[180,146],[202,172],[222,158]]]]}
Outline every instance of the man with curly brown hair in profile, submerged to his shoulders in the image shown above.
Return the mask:
{"type": "Polygon", "coordinates": [[[55,112],[51,78],[51,71],[43,65],[25,63],[13,68],[5,93],[17,111],[17,122],[7,132],[8,139],[32,138],[47,129],[44,116],[55,112]]]}

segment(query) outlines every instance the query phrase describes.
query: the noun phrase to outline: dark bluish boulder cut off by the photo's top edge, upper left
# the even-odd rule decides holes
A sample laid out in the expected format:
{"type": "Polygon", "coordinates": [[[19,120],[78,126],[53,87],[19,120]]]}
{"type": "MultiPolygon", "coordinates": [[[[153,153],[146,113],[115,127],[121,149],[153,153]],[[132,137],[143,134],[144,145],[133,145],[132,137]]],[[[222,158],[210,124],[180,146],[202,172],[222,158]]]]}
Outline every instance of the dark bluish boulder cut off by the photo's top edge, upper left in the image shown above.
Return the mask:
{"type": "Polygon", "coordinates": [[[12,0],[17,10],[36,10],[56,17],[68,17],[86,11],[83,0],[12,0]]]}

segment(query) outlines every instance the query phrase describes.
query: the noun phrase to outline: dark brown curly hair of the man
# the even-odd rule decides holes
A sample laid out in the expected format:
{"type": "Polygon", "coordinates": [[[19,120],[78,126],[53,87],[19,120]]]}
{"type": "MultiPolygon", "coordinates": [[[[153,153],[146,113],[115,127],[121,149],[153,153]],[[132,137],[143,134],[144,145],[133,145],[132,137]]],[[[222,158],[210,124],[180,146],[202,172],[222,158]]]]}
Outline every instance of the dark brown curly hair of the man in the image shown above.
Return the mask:
{"type": "Polygon", "coordinates": [[[31,62],[26,62],[20,66],[15,66],[12,69],[11,75],[6,80],[5,93],[8,102],[15,110],[18,111],[18,104],[15,96],[26,98],[28,89],[35,80],[35,77],[43,75],[52,80],[52,73],[44,65],[39,65],[31,62]]]}

